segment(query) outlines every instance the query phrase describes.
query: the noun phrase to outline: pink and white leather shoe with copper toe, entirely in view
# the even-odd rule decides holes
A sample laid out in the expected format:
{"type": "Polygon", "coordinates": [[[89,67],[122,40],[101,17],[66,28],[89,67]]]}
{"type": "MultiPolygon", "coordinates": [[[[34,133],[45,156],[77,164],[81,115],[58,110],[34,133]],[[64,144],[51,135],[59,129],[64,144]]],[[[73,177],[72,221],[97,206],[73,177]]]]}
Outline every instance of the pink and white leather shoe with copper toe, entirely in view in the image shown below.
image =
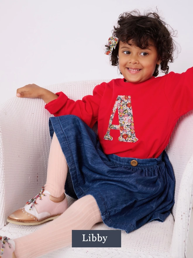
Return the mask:
{"type": "Polygon", "coordinates": [[[65,193],[56,198],[42,186],[39,194],[29,200],[23,208],[11,213],[7,221],[17,225],[39,225],[58,218],[67,208],[68,201],[65,193]]]}

